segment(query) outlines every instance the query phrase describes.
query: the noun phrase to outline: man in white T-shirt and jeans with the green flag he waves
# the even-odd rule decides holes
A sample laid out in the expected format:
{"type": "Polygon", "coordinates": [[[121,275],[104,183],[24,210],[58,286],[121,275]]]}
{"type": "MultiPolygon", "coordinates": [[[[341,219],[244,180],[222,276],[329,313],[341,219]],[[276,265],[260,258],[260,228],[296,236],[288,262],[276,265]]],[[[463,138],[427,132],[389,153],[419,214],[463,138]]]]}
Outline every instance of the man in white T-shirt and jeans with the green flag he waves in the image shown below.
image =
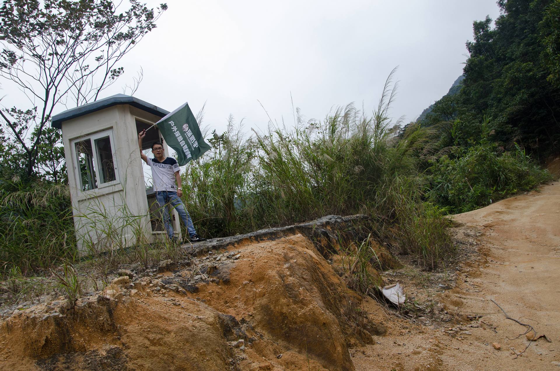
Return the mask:
{"type": "Polygon", "coordinates": [[[190,242],[204,241],[204,238],[200,237],[194,229],[189,212],[180,198],[183,196],[183,189],[181,189],[179,166],[185,165],[190,160],[198,159],[198,157],[210,149],[210,146],[204,142],[197,120],[187,103],[166,115],[156,125],[160,129],[165,141],[167,141],[167,145],[177,152],[178,160],[175,160],[173,157],[166,157],[164,147],[158,142],[152,144],[153,159],[144,155],[142,153],[142,140],[146,136],[146,130],[138,134],[138,146],[140,147],[142,160],[152,170],[153,189],[156,191],[157,203],[163,209],[162,213],[167,235],[170,239],[176,240],[173,236],[173,227],[169,211],[167,210],[167,205],[171,204],[183,220],[189,233],[190,242]],[[178,187],[175,187],[175,182],[177,182],[178,187]]]}

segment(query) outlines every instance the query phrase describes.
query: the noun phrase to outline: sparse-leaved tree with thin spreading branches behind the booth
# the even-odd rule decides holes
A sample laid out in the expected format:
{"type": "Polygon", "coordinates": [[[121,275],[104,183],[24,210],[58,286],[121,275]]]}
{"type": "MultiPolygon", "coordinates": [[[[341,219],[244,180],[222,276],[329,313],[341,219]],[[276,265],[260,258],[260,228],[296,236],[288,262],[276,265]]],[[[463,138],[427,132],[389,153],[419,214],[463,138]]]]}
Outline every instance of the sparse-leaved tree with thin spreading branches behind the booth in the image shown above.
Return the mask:
{"type": "Polygon", "coordinates": [[[119,13],[122,7],[109,0],[4,0],[0,77],[24,92],[31,108],[4,108],[0,115],[21,146],[28,176],[55,106],[96,100],[123,74],[119,61],[167,9],[137,0],[119,13]]]}

